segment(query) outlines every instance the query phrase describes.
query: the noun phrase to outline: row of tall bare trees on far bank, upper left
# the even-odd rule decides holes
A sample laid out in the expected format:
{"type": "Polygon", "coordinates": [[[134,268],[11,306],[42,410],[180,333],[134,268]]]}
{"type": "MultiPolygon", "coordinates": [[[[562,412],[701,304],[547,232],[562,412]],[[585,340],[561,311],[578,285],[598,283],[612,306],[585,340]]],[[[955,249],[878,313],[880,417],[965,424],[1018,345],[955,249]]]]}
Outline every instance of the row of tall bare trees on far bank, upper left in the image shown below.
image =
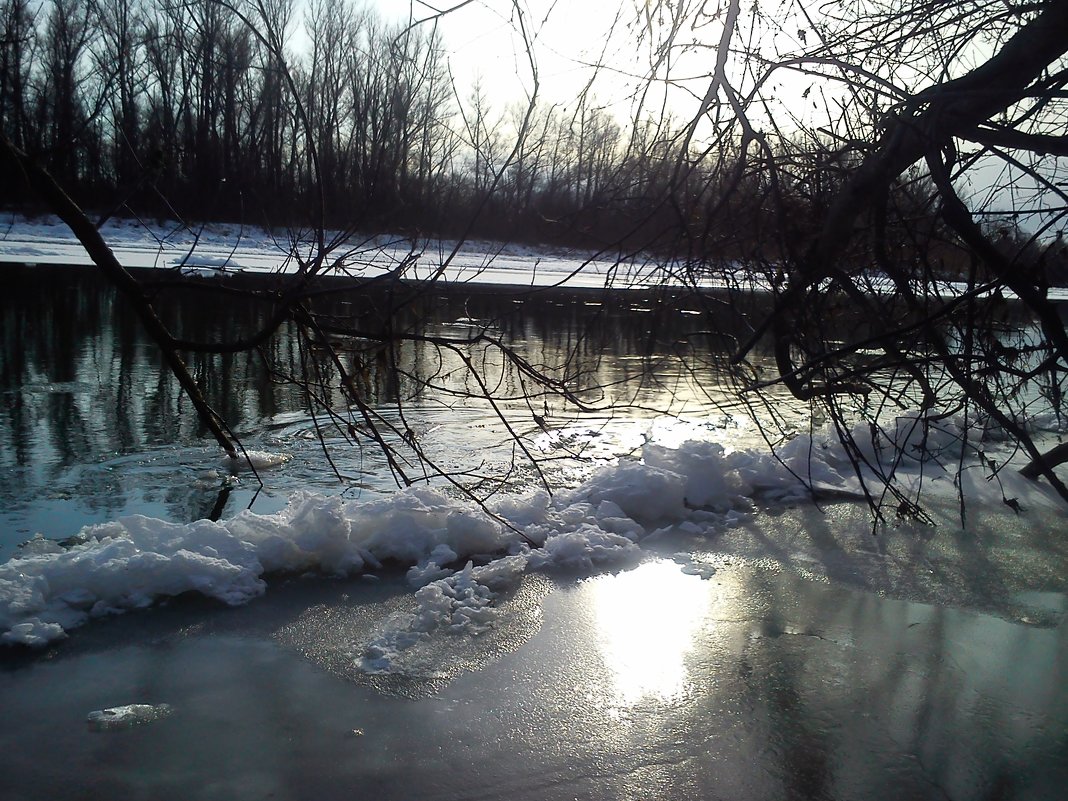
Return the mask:
{"type": "MultiPolygon", "coordinates": [[[[723,172],[587,93],[460,88],[434,26],[350,0],[0,0],[0,130],[98,213],[648,245],[707,226],[723,172]]],[[[18,173],[0,204],[32,208],[18,173]]]]}

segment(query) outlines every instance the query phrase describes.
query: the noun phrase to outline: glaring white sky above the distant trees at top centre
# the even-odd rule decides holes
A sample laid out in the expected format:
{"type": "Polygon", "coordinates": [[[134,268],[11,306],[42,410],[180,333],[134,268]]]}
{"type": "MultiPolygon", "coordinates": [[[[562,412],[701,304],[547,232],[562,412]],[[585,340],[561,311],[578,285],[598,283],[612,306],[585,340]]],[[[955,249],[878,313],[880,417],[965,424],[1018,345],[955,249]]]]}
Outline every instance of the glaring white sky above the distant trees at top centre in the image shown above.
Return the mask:
{"type": "MultiPolygon", "coordinates": [[[[723,3],[718,0],[365,0],[383,18],[397,21],[437,18],[461,99],[478,81],[494,108],[523,103],[534,85],[531,64],[519,25],[531,43],[538,74],[538,96],[549,105],[572,104],[587,87],[592,65],[600,65],[588,90],[595,105],[616,119],[666,116],[690,120],[701,107],[716,61],[722,34],[723,3]],[[679,26],[671,60],[661,61],[659,45],[670,20],[662,9],[677,11],[679,26]],[[449,10],[438,15],[437,11],[449,10]],[[654,66],[655,65],[655,66],[654,66]],[[647,84],[643,78],[670,69],[673,85],[647,84]],[[644,91],[643,91],[644,90],[644,91]],[[639,106],[639,98],[642,100],[639,106]]],[[[776,6],[784,25],[772,30],[765,21],[743,11],[738,37],[743,30],[758,30],[758,47],[769,54],[794,51],[803,45],[797,38],[804,20],[790,6],[776,6]]],[[[752,45],[750,41],[748,44],[752,45]]],[[[728,67],[732,80],[741,87],[744,79],[728,67]]],[[[797,112],[812,100],[802,100],[811,79],[781,70],[775,83],[776,101],[797,112]]]]}

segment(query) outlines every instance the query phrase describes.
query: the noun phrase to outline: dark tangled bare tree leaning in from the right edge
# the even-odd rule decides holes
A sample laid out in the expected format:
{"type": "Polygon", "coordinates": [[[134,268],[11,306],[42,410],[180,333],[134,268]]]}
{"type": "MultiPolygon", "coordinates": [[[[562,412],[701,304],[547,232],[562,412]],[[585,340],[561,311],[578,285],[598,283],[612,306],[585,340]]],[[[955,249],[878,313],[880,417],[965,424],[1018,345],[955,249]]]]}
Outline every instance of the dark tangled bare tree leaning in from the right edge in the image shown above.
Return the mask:
{"type": "MultiPolygon", "coordinates": [[[[1043,454],[1032,430],[1040,400],[1064,411],[1064,317],[1026,248],[1004,247],[981,224],[996,207],[1014,227],[1037,222],[1036,236],[1064,227],[1068,3],[871,2],[816,14],[733,0],[721,12],[688,150],[737,142],[738,171],[712,213],[752,176],[760,217],[775,221],[773,246],[745,265],[774,303],[734,349],[740,389],[785,386],[828,412],[858,471],[880,477],[876,507],[889,492],[902,514],[917,508],[895,481],[909,454],[865,456],[862,440],[896,441],[885,428],[895,409],[918,409],[924,436],[961,415],[973,452],[983,427],[996,427],[1030,457],[1024,473],[1068,499],[1054,471],[1068,449],[1043,454]],[[969,186],[986,197],[963,194],[969,186]],[[754,380],[745,365],[760,343],[775,375],[754,380]]],[[[729,250],[708,232],[694,282],[729,250]]]]}

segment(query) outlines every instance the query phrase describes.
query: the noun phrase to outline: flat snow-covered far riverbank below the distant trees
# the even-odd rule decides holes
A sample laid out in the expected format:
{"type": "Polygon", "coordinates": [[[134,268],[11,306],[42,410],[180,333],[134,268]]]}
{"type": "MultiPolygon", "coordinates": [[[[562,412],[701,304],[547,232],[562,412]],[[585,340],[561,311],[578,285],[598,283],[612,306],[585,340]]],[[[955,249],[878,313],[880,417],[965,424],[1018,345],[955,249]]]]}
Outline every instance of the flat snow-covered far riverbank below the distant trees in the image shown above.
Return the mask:
{"type": "MultiPolygon", "coordinates": [[[[128,271],[152,283],[203,281],[236,289],[277,286],[296,274],[301,262],[317,255],[313,232],[269,231],[210,223],[189,229],[176,222],[111,219],[101,227],[105,241],[128,271]]],[[[694,293],[737,301],[740,295],[772,293],[768,277],[732,262],[664,263],[643,253],[607,249],[581,251],[489,240],[427,239],[392,234],[326,232],[327,267],[316,284],[327,290],[380,285],[418,289],[433,283],[438,294],[512,294],[516,297],[588,298],[626,295],[628,301],[654,298],[677,303],[694,293]]],[[[92,266],[69,229],[56,217],[9,215],[0,224],[0,266],[92,266]]],[[[894,293],[886,279],[873,274],[869,290],[894,293]]],[[[963,285],[946,281],[953,294],[963,285]]],[[[1047,297],[1068,302],[1068,287],[1049,287],[1047,297]]]]}

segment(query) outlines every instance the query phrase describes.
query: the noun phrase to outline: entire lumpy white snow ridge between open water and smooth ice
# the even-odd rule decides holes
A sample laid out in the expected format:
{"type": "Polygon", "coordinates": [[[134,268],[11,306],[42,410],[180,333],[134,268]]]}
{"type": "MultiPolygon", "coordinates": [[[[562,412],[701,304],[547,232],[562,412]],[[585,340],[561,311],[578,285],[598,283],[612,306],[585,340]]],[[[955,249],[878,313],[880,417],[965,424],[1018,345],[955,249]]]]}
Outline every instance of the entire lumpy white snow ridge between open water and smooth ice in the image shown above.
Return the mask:
{"type": "MultiPolygon", "coordinates": [[[[907,458],[923,464],[959,449],[952,424],[917,435],[923,427],[902,418],[891,428],[907,458]]],[[[866,455],[879,458],[886,443],[867,442],[866,455]]],[[[368,670],[387,670],[428,632],[491,626],[496,593],[524,571],[588,572],[633,560],[637,544],[664,527],[707,533],[736,525],[753,500],[807,498],[799,477],[848,491],[855,485],[849,467],[841,447],[819,438],[798,437],[778,459],[693,441],[647,444],[641,461],[602,468],[555,498],[534,492],[485,509],[424,487],[370,502],[297,492],[277,514],[220,522],[126,517],[87,527],[69,547],[37,538],[0,565],[0,641],[44,645],[90,618],[160,598],[195,592],[238,604],[264,593],[271,574],[354,575],[390,562],[410,566],[420,588],[417,610],[363,656],[368,670]]]]}

